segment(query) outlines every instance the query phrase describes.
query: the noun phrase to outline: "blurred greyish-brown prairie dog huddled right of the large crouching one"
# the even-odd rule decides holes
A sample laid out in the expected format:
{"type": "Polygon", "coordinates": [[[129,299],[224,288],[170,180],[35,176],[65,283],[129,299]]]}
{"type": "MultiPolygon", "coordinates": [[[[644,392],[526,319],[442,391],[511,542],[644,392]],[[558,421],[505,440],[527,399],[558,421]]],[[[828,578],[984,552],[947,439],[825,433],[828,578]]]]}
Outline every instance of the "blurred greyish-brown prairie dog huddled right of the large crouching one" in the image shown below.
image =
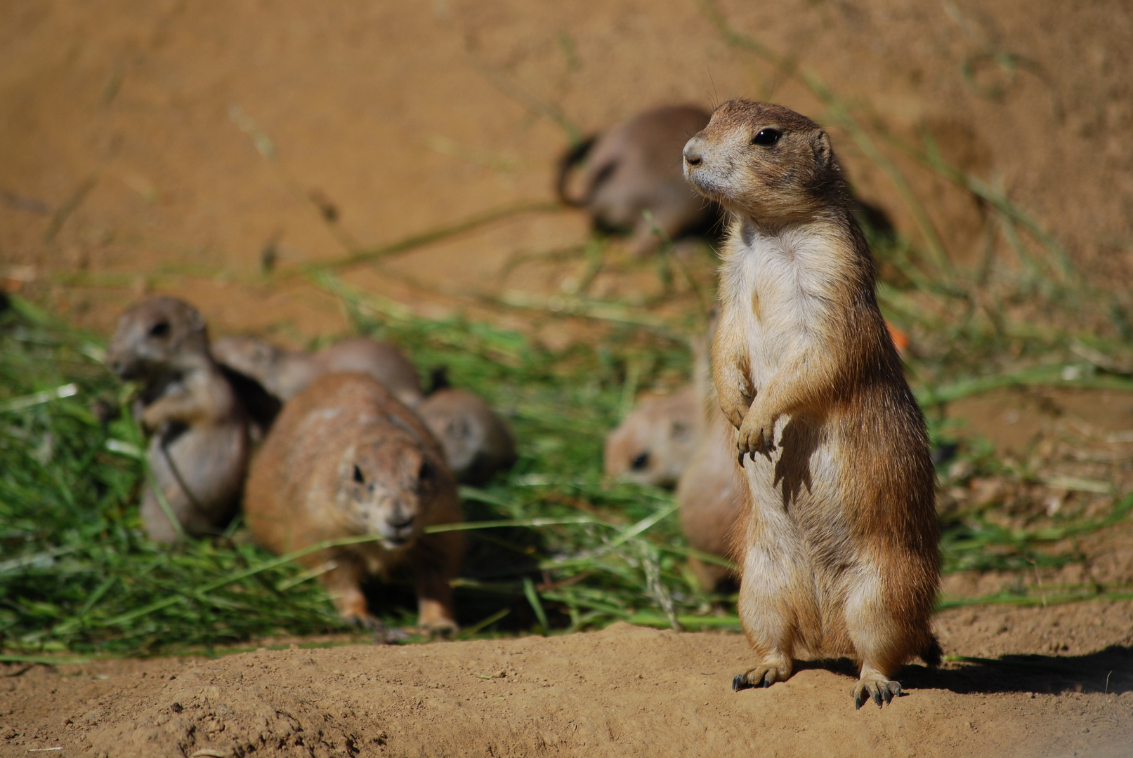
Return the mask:
{"type": "Polygon", "coordinates": [[[516,463],[511,428],[476,395],[437,389],[421,400],[417,413],[441,442],[458,481],[480,484],[516,463]]]}

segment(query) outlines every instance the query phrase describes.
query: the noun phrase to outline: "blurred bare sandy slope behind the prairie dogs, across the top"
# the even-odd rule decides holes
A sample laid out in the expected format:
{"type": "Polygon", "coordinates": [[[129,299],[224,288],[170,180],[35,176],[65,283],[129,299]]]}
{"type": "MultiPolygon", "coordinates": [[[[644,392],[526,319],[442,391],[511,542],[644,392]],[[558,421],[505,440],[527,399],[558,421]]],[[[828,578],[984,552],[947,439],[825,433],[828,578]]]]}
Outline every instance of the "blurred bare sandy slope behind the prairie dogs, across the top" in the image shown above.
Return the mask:
{"type": "MultiPolygon", "coordinates": [[[[1133,29],[1122,2],[1073,12],[935,0],[8,2],[0,12],[6,286],[23,283],[84,326],[105,330],[123,300],[176,290],[218,331],[304,341],[346,329],[333,302],[287,275],[552,201],[571,139],[658,103],[735,96],[828,126],[858,193],[915,244],[930,226],[931,246],[957,266],[978,265],[989,236],[1010,255],[996,209],[918,160],[930,137],[943,161],[1005,193],[1092,282],[1126,298],[1133,29]],[[269,250],[280,281],[262,276],[269,250]]],[[[440,312],[460,307],[452,295],[556,288],[563,270],[506,262],[586,235],[581,214],[533,210],[337,270],[440,312]]]]}

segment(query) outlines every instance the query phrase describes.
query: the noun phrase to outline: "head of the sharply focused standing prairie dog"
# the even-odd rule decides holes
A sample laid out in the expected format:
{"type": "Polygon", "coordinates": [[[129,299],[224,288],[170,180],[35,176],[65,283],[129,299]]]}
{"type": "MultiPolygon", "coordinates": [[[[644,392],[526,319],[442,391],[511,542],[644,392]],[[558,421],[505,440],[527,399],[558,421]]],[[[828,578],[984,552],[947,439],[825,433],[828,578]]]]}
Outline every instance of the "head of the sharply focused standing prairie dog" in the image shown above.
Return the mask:
{"type": "Polygon", "coordinates": [[[729,210],[760,222],[806,218],[840,191],[830,138],[781,105],[733,100],[684,145],[684,176],[729,210]]]}

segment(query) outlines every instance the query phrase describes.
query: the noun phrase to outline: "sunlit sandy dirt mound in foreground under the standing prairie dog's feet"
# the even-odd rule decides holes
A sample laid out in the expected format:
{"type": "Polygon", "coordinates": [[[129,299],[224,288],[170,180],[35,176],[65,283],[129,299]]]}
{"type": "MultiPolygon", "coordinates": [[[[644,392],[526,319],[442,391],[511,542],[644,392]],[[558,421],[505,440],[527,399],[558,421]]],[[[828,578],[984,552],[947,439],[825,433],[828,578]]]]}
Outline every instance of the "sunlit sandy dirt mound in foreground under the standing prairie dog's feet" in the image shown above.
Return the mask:
{"type": "Polygon", "coordinates": [[[552,638],[261,649],[20,677],[12,666],[0,684],[0,755],[1128,755],[1133,603],[962,610],[938,627],[949,654],[1007,657],[909,666],[906,695],[860,712],[844,664],[803,664],[785,683],[733,692],[733,674],[751,661],[743,637],[624,623],[552,638]],[[1059,639],[1060,657],[1011,657],[1048,649],[1042,637],[1059,628],[1097,631],[1059,639]]]}

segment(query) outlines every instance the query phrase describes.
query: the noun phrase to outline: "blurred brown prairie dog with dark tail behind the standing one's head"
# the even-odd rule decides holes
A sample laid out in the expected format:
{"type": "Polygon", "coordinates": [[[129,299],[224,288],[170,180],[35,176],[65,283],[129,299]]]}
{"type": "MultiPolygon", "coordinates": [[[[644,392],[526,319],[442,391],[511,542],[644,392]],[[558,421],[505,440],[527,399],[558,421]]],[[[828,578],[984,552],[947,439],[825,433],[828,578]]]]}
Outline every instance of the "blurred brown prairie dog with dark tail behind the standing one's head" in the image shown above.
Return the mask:
{"type": "Polygon", "coordinates": [[[586,208],[599,227],[630,231],[639,256],[661,243],[655,227],[668,239],[708,227],[718,208],[688,186],[681,170],[681,147],[708,118],[696,105],[663,105],[591,137],[562,157],[559,197],[586,208]],[[572,182],[572,169],[583,160],[586,167],[572,182]],[[569,184],[581,187],[572,193],[569,184]]]}

